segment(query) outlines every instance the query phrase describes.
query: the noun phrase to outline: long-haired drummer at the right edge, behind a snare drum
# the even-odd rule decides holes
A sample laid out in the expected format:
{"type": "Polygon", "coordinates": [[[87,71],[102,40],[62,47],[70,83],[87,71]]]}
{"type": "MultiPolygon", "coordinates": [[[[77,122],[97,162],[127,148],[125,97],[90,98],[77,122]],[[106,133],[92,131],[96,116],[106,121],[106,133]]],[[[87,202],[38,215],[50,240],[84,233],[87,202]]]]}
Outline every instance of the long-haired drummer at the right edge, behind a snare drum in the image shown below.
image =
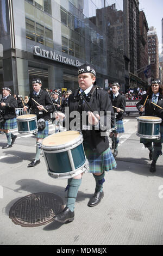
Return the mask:
{"type": "Polygon", "coordinates": [[[146,139],[140,138],[140,143],[143,143],[149,149],[149,159],[152,160],[150,172],[156,172],[156,161],[162,155],[162,142],[163,142],[163,109],[155,106],[153,103],[163,108],[163,87],[159,79],[153,79],[151,86],[147,90],[147,94],[142,96],[142,100],[136,104],[139,111],[145,110],[145,115],[159,117],[162,119],[160,124],[160,139],[146,139]],[[148,95],[148,99],[147,99],[148,95]],[[147,99],[147,101],[146,101],[147,99]],[[145,103],[146,101],[146,103],[145,103]],[[143,107],[145,103],[145,106],[143,107]]]}

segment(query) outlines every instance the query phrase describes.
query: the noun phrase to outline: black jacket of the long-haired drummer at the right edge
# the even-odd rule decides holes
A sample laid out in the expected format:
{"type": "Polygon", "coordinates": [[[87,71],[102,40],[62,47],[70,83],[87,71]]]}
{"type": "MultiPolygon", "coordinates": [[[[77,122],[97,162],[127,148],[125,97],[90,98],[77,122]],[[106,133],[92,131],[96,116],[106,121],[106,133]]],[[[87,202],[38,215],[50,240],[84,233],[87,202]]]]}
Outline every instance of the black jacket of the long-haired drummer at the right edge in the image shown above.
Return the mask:
{"type": "MultiPolygon", "coordinates": [[[[137,109],[140,109],[143,106],[143,104],[146,101],[147,95],[148,94],[144,94],[142,96],[141,101],[139,101],[136,104],[137,109]]],[[[145,104],[145,115],[151,115],[151,117],[160,117],[162,119],[161,125],[163,125],[163,109],[153,105],[153,103],[151,103],[151,101],[152,101],[152,96],[148,96],[148,99],[147,99],[146,104],[145,104]]],[[[162,97],[162,95],[159,95],[158,103],[156,105],[163,108],[163,97],[162,97]]]]}

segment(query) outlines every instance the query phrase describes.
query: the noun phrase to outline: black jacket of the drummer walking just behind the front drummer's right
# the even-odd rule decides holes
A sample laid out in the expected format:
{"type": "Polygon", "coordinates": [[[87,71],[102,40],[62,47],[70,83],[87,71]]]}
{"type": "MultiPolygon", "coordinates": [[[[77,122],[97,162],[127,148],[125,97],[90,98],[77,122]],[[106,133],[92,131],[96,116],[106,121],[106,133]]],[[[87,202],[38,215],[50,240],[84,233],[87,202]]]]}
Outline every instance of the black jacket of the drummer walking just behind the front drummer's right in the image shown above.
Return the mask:
{"type": "MultiPolygon", "coordinates": [[[[111,99],[111,102],[112,102],[112,106],[121,108],[122,110],[125,111],[125,108],[126,108],[126,97],[125,96],[123,96],[121,94],[118,94],[118,96],[113,100],[113,94],[111,93],[110,94],[110,99],[111,99]]],[[[116,111],[116,108],[114,108],[114,112],[118,113],[116,111]]],[[[120,113],[116,114],[116,119],[117,120],[123,119],[123,114],[124,114],[123,111],[121,111],[120,113]]]]}

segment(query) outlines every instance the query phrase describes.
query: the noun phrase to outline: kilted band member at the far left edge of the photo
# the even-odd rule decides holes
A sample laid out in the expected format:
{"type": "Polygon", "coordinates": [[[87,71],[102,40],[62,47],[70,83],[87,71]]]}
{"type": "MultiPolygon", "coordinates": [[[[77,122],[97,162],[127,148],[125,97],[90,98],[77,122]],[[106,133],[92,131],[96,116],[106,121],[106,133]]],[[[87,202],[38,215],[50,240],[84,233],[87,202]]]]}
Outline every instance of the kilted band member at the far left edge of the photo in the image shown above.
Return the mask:
{"type": "Polygon", "coordinates": [[[17,127],[15,108],[17,108],[17,101],[11,94],[11,90],[8,87],[2,88],[3,97],[0,100],[1,108],[1,120],[0,131],[4,132],[7,136],[7,144],[2,149],[11,148],[17,138],[16,135],[11,133],[10,130],[17,127]]]}

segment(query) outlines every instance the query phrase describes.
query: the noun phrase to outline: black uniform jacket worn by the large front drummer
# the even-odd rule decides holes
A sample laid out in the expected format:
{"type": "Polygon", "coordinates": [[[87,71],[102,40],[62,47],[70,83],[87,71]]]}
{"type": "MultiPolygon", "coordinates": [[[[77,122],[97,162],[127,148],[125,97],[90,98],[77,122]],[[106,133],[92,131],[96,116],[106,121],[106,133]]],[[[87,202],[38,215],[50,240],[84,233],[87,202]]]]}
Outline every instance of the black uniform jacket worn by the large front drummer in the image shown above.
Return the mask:
{"type": "MultiPolygon", "coordinates": [[[[92,111],[97,111],[98,114],[101,116],[101,123],[104,124],[104,127],[110,127],[109,124],[106,123],[106,112],[111,113],[111,127],[114,126],[114,110],[112,108],[111,100],[109,98],[109,94],[103,91],[98,86],[93,86],[91,89],[91,92],[85,96],[86,101],[89,103],[92,111]],[[103,114],[100,114],[100,111],[102,111],[103,114]]],[[[90,111],[89,107],[86,105],[85,102],[82,104],[82,96],[79,95],[79,89],[73,92],[68,97],[68,106],[69,106],[69,114],[73,113],[73,111],[78,111],[82,114],[83,111],[90,111]]],[[[85,115],[85,113],[83,113],[85,115]]],[[[73,120],[71,117],[69,120],[69,123],[73,120]]],[[[80,121],[82,121],[82,115],[80,118],[80,121]]],[[[109,120],[110,121],[110,120],[109,120]]],[[[99,129],[96,130],[96,128],[93,126],[91,130],[85,130],[83,127],[83,124],[77,122],[77,130],[81,130],[84,138],[84,142],[87,141],[94,153],[101,154],[103,151],[108,149],[109,147],[109,141],[108,136],[106,136],[106,133],[104,132],[103,127],[99,125],[99,129]],[[78,129],[78,126],[80,126],[80,129],[78,129]]],[[[88,124],[89,126],[89,124],[88,124]]],[[[106,130],[105,130],[106,131],[106,130]]]]}

